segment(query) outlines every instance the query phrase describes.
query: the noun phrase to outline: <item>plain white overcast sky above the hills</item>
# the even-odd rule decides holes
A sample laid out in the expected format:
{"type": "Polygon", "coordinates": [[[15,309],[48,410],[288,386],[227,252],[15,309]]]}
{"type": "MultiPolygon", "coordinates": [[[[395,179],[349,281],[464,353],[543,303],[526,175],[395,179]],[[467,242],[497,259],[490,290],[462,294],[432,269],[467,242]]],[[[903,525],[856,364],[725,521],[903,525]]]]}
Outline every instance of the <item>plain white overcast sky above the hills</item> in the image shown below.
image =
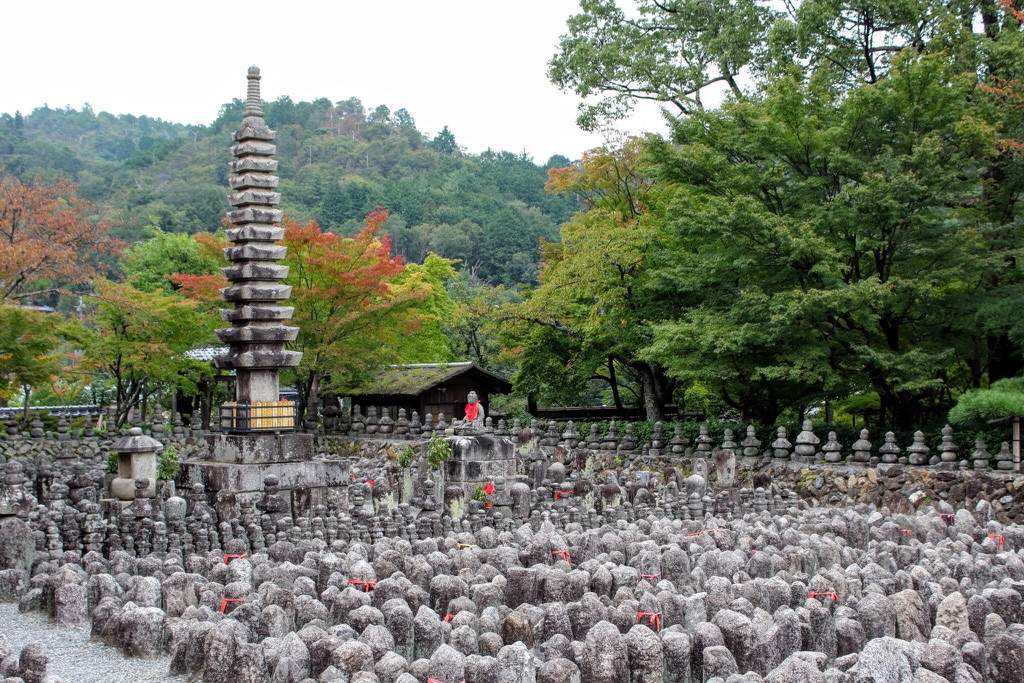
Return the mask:
{"type": "MultiPolygon", "coordinates": [[[[358,97],[447,125],[470,152],[544,163],[601,142],[575,125],[577,96],[546,76],[577,0],[32,0],[4,3],[0,112],[88,102],[113,114],[210,123],[245,97],[358,97]]],[[[623,130],[664,130],[645,106],[623,130]]]]}

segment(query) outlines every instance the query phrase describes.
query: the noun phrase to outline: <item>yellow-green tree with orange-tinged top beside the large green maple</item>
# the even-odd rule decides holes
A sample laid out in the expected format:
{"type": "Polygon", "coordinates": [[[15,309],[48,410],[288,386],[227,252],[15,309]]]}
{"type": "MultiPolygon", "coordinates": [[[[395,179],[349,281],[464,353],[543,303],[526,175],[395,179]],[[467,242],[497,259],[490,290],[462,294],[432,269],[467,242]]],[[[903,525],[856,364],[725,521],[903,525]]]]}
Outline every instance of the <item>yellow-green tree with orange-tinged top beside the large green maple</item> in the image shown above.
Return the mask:
{"type": "Polygon", "coordinates": [[[540,285],[504,316],[522,347],[520,390],[566,401],[592,393],[596,381],[616,405],[640,404],[658,420],[676,381],[641,355],[668,303],[649,295],[650,257],[663,234],[641,153],[641,140],[627,140],[550,171],[549,191],[574,194],[586,210],[562,226],[559,244],[545,245],[540,285]]]}

